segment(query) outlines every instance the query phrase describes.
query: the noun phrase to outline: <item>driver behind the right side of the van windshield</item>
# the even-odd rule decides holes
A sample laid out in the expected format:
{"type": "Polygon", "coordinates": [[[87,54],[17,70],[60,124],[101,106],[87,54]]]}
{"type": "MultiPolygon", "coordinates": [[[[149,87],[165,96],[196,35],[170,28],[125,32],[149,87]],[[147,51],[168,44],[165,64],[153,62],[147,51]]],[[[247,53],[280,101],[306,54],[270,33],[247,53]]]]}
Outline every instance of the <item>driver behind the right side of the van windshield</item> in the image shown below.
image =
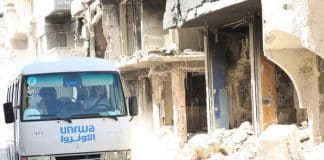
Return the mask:
{"type": "Polygon", "coordinates": [[[90,92],[90,97],[86,100],[86,109],[106,108],[108,105],[107,92],[105,86],[94,86],[90,92]]]}

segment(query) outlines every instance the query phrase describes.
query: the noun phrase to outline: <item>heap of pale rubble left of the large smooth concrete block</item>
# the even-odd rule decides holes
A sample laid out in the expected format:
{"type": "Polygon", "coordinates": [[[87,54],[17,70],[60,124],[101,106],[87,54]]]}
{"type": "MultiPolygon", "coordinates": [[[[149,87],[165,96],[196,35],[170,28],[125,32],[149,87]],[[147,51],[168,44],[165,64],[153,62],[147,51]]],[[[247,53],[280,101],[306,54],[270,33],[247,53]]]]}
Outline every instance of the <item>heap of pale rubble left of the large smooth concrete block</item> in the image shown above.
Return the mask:
{"type": "Polygon", "coordinates": [[[189,139],[179,154],[180,160],[256,159],[256,138],[249,122],[237,129],[217,129],[189,139]]]}

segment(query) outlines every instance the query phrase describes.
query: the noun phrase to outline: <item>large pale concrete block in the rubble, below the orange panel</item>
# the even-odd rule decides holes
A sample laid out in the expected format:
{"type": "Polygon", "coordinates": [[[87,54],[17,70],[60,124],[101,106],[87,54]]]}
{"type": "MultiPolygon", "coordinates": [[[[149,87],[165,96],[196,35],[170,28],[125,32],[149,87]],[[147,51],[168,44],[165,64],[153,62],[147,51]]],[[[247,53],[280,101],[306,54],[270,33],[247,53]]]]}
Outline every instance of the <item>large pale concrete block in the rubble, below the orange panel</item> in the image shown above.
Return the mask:
{"type": "Polygon", "coordinates": [[[271,125],[260,136],[262,160],[304,159],[295,125],[271,125]]]}

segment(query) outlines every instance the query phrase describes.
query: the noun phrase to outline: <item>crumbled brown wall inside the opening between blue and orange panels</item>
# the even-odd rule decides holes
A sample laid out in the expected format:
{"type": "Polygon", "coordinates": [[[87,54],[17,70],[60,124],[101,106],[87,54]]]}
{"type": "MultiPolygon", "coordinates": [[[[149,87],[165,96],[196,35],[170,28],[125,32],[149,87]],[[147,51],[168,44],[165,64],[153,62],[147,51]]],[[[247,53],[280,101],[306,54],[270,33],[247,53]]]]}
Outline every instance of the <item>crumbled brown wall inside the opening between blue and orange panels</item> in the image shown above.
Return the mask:
{"type": "Polygon", "coordinates": [[[238,33],[226,37],[228,109],[230,128],[233,128],[243,121],[252,121],[249,43],[238,33]]]}

